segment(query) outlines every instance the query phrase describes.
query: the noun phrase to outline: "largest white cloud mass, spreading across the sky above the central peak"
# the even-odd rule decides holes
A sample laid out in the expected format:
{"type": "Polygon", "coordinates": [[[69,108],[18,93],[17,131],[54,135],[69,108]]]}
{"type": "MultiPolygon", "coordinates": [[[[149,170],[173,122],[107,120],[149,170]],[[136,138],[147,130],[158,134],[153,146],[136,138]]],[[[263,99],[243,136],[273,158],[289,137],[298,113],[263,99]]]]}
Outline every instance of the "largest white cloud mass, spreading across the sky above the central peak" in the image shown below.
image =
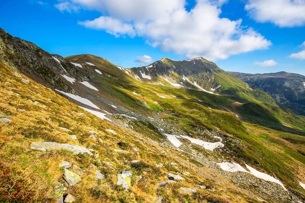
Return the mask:
{"type": "Polygon", "coordinates": [[[185,9],[185,0],[69,1],[102,13],[100,18],[79,22],[85,27],[103,29],[116,37],[142,37],[153,47],[188,58],[226,59],[271,45],[260,33],[241,25],[241,19],[219,17],[227,0],[197,0],[191,11],[185,9]]]}

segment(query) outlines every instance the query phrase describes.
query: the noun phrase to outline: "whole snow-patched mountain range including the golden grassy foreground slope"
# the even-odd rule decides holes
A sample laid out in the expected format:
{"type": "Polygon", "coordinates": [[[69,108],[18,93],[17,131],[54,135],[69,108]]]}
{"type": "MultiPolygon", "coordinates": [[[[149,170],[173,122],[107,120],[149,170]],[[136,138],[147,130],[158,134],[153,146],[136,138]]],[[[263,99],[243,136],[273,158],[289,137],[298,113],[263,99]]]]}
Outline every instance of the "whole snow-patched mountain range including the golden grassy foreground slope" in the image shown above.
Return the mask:
{"type": "Polygon", "coordinates": [[[124,68],[0,29],[0,68],[0,201],[305,200],[303,117],[202,57],[124,68]]]}

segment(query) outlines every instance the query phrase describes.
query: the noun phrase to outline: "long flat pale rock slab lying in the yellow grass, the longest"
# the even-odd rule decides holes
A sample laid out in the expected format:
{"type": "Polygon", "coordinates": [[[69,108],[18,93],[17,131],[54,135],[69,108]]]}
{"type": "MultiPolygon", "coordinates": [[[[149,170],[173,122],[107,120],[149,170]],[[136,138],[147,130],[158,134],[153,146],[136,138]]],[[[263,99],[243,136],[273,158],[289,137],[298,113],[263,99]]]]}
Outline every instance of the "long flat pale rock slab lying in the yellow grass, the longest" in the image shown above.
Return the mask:
{"type": "Polygon", "coordinates": [[[93,155],[90,149],[78,145],[60,144],[55,142],[33,142],[31,143],[31,149],[39,151],[66,149],[73,152],[75,155],[79,153],[93,155]]]}

